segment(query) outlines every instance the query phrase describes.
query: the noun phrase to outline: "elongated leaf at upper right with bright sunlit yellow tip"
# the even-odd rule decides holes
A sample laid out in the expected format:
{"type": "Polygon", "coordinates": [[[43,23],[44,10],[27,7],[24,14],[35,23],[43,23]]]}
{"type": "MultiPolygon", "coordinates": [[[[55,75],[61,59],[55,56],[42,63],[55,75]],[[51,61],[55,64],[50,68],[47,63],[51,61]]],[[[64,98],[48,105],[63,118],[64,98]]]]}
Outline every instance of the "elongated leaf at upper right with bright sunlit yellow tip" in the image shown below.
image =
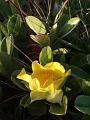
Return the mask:
{"type": "Polygon", "coordinates": [[[60,29],[58,36],[61,38],[65,37],[68,35],[80,22],[79,17],[71,18],[69,21],[65,23],[65,25],[60,29]]]}

